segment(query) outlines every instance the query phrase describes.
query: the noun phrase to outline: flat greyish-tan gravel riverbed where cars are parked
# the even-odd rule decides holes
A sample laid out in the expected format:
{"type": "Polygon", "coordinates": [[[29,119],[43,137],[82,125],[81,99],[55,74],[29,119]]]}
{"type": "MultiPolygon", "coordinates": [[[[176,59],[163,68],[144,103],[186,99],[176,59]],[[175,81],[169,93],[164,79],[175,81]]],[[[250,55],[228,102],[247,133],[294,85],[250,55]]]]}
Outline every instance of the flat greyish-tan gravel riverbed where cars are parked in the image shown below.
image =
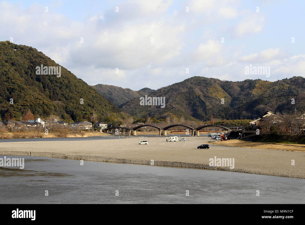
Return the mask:
{"type": "Polygon", "coordinates": [[[190,137],[188,141],[168,143],[166,137],[145,137],[145,139],[129,137],[127,139],[89,141],[79,138],[78,140],[47,141],[45,139],[45,141],[0,142],[0,154],[4,154],[6,151],[55,152],[67,155],[153,159],[205,165],[209,164],[210,158],[216,156],[217,158],[234,158],[235,169],[232,171],[305,178],[305,152],[230,147],[212,143],[208,143],[210,149],[197,149],[200,144],[211,141],[208,137],[190,137]],[[139,145],[138,142],[142,140],[148,140],[149,144],[139,145]],[[295,160],[293,166],[291,165],[292,160],[295,160]]]}

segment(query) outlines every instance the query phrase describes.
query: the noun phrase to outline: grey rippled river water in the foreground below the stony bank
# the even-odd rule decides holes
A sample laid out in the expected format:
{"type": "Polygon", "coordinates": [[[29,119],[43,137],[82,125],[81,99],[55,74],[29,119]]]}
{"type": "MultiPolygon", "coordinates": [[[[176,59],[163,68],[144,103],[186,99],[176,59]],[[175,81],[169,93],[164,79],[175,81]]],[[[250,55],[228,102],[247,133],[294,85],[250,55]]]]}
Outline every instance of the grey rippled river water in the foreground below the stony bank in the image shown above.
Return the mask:
{"type": "Polygon", "coordinates": [[[305,180],[300,178],[126,163],[84,161],[80,165],[78,160],[34,156],[7,157],[24,158],[25,167],[0,167],[0,203],[5,204],[289,204],[305,200],[305,180]],[[256,196],[257,190],[260,196],[256,196]]]}

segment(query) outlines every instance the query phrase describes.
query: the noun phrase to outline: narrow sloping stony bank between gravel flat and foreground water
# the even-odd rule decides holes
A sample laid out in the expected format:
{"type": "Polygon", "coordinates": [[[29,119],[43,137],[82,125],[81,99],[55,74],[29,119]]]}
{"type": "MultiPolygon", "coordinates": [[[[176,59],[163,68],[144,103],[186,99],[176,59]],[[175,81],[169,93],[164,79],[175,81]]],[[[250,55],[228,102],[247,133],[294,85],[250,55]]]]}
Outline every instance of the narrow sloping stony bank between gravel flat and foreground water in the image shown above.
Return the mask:
{"type": "MultiPolygon", "coordinates": [[[[152,165],[152,161],[150,161],[150,160],[120,159],[120,158],[93,156],[93,155],[70,155],[70,154],[61,154],[61,153],[56,153],[56,152],[27,152],[27,151],[0,150],[0,154],[1,155],[16,155],[16,156],[52,157],[52,158],[75,159],[75,160],[82,159],[82,160],[88,160],[88,161],[152,165]]],[[[264,169],[246,169],[246,168],[230,169],[229,167],[212,167],[207,164],[200,164],[200,163],[154,160],[153,165],[154,166],[168,166],[168,167],[188,167],[188,168],[198,168],[198,169],[212,169],[212,170],[233,171],[233,172],[242,172],[242,173],[250,173],[250,174],[305,178],[305,174],[283,173],[280,171],[264,170],[264,169]]]]}

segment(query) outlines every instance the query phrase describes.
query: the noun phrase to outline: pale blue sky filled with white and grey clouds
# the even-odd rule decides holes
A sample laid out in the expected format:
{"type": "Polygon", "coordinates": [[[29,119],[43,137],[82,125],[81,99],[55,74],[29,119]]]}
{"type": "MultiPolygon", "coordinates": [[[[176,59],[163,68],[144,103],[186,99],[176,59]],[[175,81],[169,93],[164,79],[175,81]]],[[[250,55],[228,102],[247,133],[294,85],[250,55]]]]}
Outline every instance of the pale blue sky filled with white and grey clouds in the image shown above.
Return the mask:
{"type": "Polygon", "coordinates": [[[304,9],[303,0],[0,0],[0,40],[34,47],[90,85],[275,81],[304,77],[304,9]],[[250,64],[270,66],[270,77],[245,75],[250,64]]]}

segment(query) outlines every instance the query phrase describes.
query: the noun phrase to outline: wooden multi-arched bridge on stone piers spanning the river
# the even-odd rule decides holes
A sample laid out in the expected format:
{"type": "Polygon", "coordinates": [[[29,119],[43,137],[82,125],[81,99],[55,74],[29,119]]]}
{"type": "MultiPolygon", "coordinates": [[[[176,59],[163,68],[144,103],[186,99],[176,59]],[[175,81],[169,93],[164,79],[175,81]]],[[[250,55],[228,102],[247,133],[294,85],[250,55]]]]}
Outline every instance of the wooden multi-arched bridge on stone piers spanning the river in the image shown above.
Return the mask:
{"type": "Polygon", "coordinates": [[[171,124],[169,126],[166,126],[166,127],[160,127],[160,126],[156,126],[156,125],[153,125],[153,124],[142,124],[142,125],[139,125],[139,126],[135,126],[133,128],[126,128],[126,127],[120,127],[120,126],[117,126],[117,127],[109,127],[107,129],[103,129],[102,131],[105,132],[105,133],[111,133],[111,134],[116,134],[116,135],[137,135],[136,134],[136,130],[137,129],[140,129],[141,127],[146,127],[146,126],[150,126],[150,127],[154,127],[156,129],[159,130],[159,136],[163,136],[163,135],[167,135],[167,130],[172,128],[172,127],[175,127],[175,126],[182,126],[182,127],[185,127],[185,132],[186,134],[192,134],[192,136],[200,136],[199,135],[199,130],[203,129],[203,128],[206,128],[206,127],[210,127],[210,126],[213,126],[213,127],[220,127],[224,130],[229,130],[230,128],[226,127],[226,126],[221,126],[221,125],[214,125],[214,124],[209,124],[209,125],[204,125],[204,126],[199,126],[197,128],[195,127],[192,127],[192,126],[189,126],[189,125],[185,125],[185,124],[171,124]]]}

